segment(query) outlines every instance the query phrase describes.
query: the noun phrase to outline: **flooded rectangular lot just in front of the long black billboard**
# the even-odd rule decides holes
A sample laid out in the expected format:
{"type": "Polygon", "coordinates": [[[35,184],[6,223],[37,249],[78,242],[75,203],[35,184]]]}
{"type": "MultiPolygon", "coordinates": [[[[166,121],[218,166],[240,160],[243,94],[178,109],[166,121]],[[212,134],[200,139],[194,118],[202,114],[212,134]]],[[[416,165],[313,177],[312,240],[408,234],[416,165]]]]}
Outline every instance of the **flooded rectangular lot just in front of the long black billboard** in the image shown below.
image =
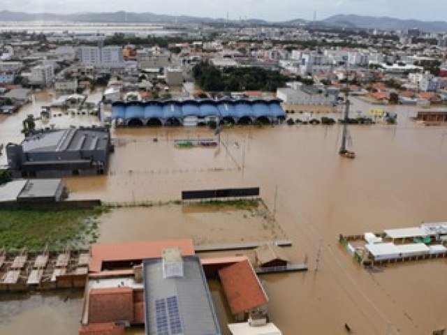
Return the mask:
{"type": "Polygon", "coordinates": [[[99,234],[99,242],[189,237],[196,246],[286,239],[262,204],[250,209],[180,204],[114,209],[101,216],[99,234]]]}

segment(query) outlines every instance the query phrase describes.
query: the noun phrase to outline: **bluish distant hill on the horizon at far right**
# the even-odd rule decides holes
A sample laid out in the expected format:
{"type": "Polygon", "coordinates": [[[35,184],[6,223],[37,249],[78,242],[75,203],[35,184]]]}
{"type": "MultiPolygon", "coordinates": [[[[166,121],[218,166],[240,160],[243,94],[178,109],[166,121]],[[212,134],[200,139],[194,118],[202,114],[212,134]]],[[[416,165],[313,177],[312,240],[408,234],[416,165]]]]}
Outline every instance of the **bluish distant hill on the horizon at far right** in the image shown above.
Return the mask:
{"type": "Polygon", "coordinates": [[[420,21],[400,20],[393,17],[374,17],[362,15],[332,15],[323,20],[326,24],[344,25],[352,24],[354,27],[383,30],[406,30],[418,28],[422,31],[441,32],[447,31],[447,22],[444,21],[420,21]]]}

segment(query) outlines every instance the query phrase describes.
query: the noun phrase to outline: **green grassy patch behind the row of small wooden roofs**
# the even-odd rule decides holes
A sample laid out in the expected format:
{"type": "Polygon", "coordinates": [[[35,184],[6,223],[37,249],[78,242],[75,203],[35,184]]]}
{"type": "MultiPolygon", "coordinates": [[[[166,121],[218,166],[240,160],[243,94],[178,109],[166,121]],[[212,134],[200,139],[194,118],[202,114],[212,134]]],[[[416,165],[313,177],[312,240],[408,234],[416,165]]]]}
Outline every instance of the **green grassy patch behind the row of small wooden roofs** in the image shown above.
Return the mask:
{"type": "Polygon", "coordinates": [[[0,210],[0,248],[29,250],[85,247],[98,238],[103,209],[68,211],[0,210]]]}

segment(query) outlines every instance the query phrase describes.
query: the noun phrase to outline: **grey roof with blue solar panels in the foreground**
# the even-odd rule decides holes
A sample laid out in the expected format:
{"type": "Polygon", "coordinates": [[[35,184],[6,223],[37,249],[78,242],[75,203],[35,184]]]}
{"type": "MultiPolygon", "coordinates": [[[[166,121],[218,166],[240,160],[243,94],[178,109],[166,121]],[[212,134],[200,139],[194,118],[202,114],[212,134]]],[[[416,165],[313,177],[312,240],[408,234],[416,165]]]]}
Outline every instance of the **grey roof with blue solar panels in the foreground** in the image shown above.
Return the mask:
{"type": "Polygon", "coordinates": [[[163,276],[161,259],[143,262],[145,334],[220,335],[200,260],[182,257],[184,275],[163,276]]]}

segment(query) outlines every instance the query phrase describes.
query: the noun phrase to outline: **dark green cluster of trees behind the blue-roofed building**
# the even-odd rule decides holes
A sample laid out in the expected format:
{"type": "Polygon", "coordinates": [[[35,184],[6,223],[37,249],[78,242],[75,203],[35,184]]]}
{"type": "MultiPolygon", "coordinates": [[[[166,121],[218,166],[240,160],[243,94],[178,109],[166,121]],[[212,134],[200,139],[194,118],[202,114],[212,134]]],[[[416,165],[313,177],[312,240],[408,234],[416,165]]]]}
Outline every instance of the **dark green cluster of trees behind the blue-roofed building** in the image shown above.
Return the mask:
{"type": "Polygon", "coordinates": [[[207,61],[193,67],[193,77],[205,91],[276,91],[288,79],[279,71],[263,68],[228,67],[220,70],[207,61]]]}

